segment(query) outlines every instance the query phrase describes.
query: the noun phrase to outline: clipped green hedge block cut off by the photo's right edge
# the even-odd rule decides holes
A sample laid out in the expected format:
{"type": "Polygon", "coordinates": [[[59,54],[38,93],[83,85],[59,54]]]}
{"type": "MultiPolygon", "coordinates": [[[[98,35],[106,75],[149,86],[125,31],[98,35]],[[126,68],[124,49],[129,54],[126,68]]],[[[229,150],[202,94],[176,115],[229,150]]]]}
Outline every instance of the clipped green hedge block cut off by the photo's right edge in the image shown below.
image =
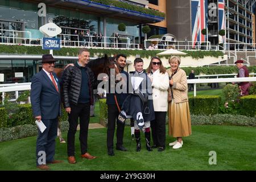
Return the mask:
{"type": "Polygon", "coordinates": [[[256,117],[256,95],[243,96],[240,103],[242,115],[256,117]]]}

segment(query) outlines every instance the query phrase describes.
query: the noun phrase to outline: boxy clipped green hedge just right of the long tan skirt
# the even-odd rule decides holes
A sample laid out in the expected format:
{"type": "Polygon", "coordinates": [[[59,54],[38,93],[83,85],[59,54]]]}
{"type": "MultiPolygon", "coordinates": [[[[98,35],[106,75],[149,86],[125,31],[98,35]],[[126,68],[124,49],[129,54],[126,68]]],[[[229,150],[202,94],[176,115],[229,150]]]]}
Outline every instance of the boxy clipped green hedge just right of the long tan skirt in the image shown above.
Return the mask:
{"type": "Polygon", "coordinates": [[[189,97],[189,110],[194,115],[218,114],[221,96],[196,96],[189,97]]]}

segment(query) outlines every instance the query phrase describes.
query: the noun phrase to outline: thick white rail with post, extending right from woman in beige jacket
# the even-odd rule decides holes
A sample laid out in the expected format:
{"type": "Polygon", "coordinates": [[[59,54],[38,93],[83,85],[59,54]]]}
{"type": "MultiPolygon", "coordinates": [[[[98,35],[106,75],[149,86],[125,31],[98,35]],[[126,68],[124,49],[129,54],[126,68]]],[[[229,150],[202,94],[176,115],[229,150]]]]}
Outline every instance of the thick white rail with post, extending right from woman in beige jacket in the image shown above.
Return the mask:
{"type": "Polygon", "coordinates": [[[187,80],[188,84],[194,84],[194,97],[196,97],[196,84],[221,83],[221,82],[245,82],[256,81],[256,77],[243,78],[208,78],[208,79],[191,79],[187,80]]]}

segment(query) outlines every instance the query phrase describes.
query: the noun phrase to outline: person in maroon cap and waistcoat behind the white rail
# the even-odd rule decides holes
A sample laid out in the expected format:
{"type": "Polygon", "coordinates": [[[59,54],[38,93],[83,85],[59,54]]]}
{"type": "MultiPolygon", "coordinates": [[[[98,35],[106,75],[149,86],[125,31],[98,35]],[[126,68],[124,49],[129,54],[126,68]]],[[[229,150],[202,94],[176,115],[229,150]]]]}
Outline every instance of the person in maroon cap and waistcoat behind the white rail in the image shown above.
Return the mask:
{"type": "MultiPolygon", "coordinates": [[[[237,64],[237,68],[239,69],[238,74],[237,74],[238,78],[249,77],[249,71],[248,71],[247,67],[245,65],[243,65],[243,60],[237,60],[235,62],[235,64],[237,64]]],[[[233,82],[233,84],[235,84],[235,83],[233,82]]],[[[247,82],[247,81],[246,82],[238,82],[237,84],[241,90],[241,93],[240,93],[241,96],[249,95],[249,87],[250,87],[249,82],[247,82]]]]}

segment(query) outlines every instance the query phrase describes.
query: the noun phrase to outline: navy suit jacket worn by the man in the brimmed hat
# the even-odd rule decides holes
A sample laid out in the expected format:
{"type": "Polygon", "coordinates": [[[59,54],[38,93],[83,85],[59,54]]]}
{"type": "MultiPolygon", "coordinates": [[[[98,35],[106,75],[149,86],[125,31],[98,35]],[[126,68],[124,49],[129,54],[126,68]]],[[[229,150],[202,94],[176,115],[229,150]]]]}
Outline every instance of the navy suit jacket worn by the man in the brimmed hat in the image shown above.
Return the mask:
{"type": "MultiPolygon", "coordinates": [[[[53,76],[60,90],[59,80],[53,76]]],[[[34,117],[41,115],[43,119],[55,119],[60,115],[60,93],[43,69],[31,79],[31,105],[34,117]]]]}

